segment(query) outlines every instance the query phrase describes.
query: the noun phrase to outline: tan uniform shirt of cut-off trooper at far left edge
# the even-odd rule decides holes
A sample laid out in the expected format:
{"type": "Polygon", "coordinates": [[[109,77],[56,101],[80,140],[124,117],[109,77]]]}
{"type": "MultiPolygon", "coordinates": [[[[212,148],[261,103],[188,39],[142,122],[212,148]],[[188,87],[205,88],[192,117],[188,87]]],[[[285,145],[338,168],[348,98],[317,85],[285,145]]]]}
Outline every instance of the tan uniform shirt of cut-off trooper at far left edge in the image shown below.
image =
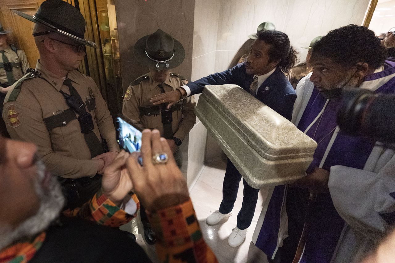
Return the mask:
{"type": "MultiPolygon", "coordinates": [[[[12,73],[14,74],[14,78],[17,81],[18,79],[23,77],[23,75],[26,73],[26,70],[30,68],[26,54],[22,50],[17,50],[17,56],[17,54],[15,54],[15,52],[10,47],[4,49],[4,51],[4,54],[8,58],[8,62],[13,62],[17,64],[17,67],[12,68],[12,73]],[[21,60],[22,70],[24,74],[22,74],[21,67],[19,66],[19,60],[21,60]]],[[[3,62],[2,54],[0,54],[0,62],[3,62]]],[[[6,71],[4,70],[4,68],[0,68],[0,83],[6,82],[8,82],[6,71]]]]}

